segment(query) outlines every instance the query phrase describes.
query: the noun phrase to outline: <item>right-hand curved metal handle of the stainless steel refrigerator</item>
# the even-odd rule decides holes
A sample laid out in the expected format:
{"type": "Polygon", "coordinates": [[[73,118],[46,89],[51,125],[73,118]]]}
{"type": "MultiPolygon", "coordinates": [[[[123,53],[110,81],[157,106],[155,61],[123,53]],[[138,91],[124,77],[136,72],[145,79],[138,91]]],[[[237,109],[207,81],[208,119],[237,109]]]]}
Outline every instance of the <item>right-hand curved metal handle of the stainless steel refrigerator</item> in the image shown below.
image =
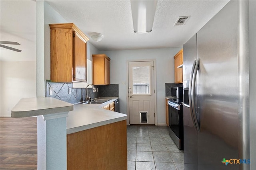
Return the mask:
{"type": "Polygon", "coordinates": [[[193,117],[194,117],[194,123],[196,124],[196,129],[199,132],[200,131],[200,127],[199,127],[199,123],[198,123],[198,118],[196,116],[196,105],[195,105],[195,88],[196,88],[196,76],[197,76],[197,71],[199,69],[199,59],[197,59],[196,61],[196,66],[194,69],[194,74],[193,74],[193,78],[192,78],[192,84],[191,84],[191,104],[192,104],[192,110],[193,110],[193,117]]]}

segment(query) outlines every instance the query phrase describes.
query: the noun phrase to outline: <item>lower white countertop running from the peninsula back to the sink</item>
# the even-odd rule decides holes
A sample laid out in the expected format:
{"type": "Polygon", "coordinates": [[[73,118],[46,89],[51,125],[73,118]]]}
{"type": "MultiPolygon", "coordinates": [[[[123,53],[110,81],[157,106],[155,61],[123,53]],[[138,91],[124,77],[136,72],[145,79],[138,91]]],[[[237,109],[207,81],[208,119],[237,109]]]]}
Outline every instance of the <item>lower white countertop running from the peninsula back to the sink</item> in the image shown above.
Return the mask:
{"type": "Polygon", "coordinates": [[[103,106],[110,104],[118,98],[111,99],[104,104],[75,104],[75,109],[68,113],[67,117],[67,134],[123,121],[127,115],[102,109],[103,106]]]}

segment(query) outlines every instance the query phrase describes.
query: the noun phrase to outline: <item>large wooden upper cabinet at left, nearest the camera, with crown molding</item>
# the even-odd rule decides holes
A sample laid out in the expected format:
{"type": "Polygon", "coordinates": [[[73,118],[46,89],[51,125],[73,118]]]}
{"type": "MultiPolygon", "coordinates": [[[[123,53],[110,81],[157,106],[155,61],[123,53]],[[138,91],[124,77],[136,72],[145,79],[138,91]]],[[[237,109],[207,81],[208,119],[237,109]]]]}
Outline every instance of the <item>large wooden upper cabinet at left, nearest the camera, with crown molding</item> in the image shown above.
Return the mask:
{"type": "Polygon", "coordinates": [[[74,23],[49,24],[51,33],[51,81],[87,82],[86,42],[74,23]]]}

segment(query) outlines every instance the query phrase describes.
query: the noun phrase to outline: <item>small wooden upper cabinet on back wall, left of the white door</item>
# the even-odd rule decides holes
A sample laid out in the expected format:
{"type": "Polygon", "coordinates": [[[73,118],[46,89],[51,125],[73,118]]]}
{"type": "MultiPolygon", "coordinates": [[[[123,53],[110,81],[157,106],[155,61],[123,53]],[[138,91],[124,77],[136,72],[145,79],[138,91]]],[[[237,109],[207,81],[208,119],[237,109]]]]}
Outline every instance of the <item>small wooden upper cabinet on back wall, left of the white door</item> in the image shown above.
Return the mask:
{"type": "Polygon", "coordinates": [[[94,85],[110,84],[110,58],[105,54],[92,55],[94,85]]]}

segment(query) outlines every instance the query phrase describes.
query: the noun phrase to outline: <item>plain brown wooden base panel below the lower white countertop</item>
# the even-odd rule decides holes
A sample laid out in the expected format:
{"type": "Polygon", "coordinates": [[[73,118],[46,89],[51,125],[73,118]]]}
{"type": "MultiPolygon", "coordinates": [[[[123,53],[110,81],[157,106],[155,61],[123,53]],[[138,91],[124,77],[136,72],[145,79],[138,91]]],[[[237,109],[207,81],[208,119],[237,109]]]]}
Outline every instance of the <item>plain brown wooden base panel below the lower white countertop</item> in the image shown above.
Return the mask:
{"type": "Polygon", "coordinates": [[[67,170],[127,170],[126,120],[67,135],[67,170]]]}

